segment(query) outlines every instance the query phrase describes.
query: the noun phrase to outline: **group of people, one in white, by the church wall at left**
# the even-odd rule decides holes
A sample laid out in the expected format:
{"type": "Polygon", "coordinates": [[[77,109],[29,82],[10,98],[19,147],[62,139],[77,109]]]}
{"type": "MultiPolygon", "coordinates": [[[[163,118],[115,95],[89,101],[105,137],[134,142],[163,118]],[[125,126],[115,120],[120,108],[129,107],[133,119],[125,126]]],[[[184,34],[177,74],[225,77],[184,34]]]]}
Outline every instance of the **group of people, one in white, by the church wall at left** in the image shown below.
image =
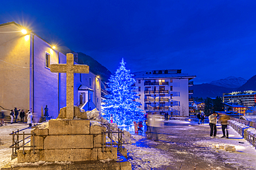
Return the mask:
{"type": "MultiPolygon", "coordinates": [[[[28,123],[29,127],[31,127],[32,126],[32,121],[33,121],[33,114],[30,110],[28,110],[26,115],[27,115],[27,120],[28,120],[27,123],[28,123]]],[[[19,109],[18,110],[17,107],[15,107],[15,109],[11,109],[10,110],[10,124],[13,123],[13,120],[15,120],[14,123],[17,123],[18,116],[21,118],[21,123],[24,123],[24,117],[26,115],[25,115],[24,109],[19,109]]]]}

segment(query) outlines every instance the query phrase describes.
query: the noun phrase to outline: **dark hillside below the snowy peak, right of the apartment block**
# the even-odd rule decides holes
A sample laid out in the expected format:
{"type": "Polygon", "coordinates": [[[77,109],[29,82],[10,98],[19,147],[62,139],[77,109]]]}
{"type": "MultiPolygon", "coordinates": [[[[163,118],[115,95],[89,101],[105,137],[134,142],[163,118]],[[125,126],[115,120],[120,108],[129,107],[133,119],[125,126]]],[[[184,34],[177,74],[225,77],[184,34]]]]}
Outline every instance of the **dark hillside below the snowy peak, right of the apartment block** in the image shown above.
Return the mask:
{"type": "Polygon", "coordinates": [[[208,83],[203,83],[201,85],[193,85],[190,89],[194,89],[193,96],[199,98],[215,98],[217,96],[223,96],[223,93],[229,93],[234,91],[232,88],[220,87],[217,85],[210,85],[208,83]]]}

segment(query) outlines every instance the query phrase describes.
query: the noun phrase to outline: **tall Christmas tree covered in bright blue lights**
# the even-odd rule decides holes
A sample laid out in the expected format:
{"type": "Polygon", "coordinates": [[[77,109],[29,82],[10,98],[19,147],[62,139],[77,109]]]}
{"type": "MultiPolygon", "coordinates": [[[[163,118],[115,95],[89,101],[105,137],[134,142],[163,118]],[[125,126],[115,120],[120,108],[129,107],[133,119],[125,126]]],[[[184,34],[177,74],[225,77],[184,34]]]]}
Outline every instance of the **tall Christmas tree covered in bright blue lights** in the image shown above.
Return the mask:
{"type": "Polygon", "coordinates": [[[102,101],[104,103],[102,112],[107,119],[113,115],[113,123],[131,125],[134,121],[138,123],[143,120],[143,110],[138,108],[141,104],[135,101],[138,93],[135,92],[136,81],[131,78],[134,75],[125,68],[124,59],[120,64],[115,75],[111,75],[107,83],[109,87],[107,91],[110,94],[106,96],[107,100],[102,101]]]}

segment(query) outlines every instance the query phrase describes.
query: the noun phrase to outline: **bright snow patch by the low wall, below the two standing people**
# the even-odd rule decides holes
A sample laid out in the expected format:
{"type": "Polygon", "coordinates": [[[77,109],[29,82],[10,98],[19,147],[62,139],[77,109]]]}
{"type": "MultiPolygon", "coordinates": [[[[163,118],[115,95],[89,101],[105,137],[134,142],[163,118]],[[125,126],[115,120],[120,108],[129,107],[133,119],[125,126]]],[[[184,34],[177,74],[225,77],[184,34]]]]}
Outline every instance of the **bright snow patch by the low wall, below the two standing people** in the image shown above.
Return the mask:
{"type": "MultiPolygon", "coordinates": [[[[219,135],[217,138],[199,140],[194,142],[194,145],[208,147],[208,149],[214,149],[215,151],[221,153],[223,158],[227,158],[226,162],[224,162],[226,164],[237,166],[244,165],[248,168],[254,169],[256,167],[256,149],[230,126],[228,126],[228,134],[228,139],[220,138],[222,136],[221,133],[221,135],[219,135]],[[232,147],[235,147],[235,151],[228,151],[228,148],[232,147]]],[[[203,152],[196,152],[196,154],[205,160],[214,161],[214,159],[212,159],[212,154],[203,152]]]]}

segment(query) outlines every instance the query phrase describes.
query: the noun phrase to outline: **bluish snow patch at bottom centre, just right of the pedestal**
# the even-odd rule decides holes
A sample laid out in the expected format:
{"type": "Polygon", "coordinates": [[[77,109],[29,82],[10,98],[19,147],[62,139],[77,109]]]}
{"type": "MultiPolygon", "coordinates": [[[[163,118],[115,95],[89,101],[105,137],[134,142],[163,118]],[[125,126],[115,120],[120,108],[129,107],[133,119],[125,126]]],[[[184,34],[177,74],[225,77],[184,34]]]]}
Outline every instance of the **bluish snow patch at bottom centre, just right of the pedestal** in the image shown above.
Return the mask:
{"type": "Polygon", "coordinates": [[[154,169],[171,163],[172,157],[160,149],[124,146],[128,151],[128,160],[134,166],[133,169],[154,169]]]}

